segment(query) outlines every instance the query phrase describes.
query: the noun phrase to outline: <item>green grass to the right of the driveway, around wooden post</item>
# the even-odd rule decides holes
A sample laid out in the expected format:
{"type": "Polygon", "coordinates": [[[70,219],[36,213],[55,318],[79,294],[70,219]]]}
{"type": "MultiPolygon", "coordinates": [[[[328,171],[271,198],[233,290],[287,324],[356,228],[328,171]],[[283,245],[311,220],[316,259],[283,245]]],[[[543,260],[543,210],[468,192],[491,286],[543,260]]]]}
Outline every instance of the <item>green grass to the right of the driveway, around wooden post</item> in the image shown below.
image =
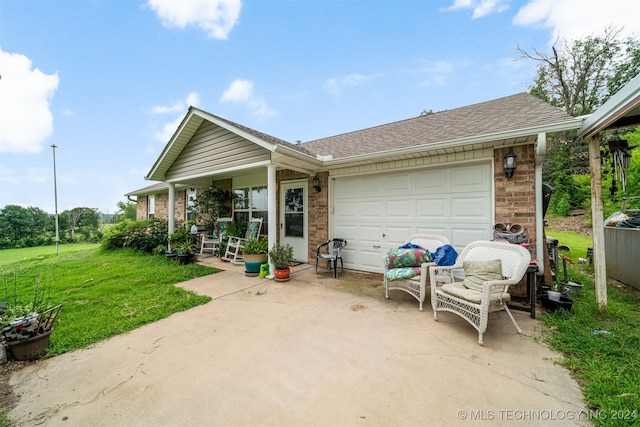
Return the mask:
{"type": "MultiPolygon", "coordinates": [[[[560,245],[571,248],[568,256],[585,257],[589,236],[548,232],[560,245]]],[[[608,304],[600,312],[595,297],[593,267],[568,265],[569,280],[584,287],[574,298],[571,312],[540,316],[546,325],[545,339],[564,355],[560,362],[581,384],[585,402],[602,426],[640,425],[640,292],[610,281],[608,304]]]]}

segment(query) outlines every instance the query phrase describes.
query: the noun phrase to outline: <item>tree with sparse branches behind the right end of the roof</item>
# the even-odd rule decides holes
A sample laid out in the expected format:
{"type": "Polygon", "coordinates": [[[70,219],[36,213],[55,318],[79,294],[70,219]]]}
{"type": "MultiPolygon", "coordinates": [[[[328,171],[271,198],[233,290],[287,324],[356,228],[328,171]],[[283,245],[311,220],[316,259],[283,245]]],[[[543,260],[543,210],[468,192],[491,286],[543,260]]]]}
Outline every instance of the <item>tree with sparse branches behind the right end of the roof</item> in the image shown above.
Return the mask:
{"type": "MultiPolygon", "coordinates": [[[[602,35],[559,41],[551,53],[518,46],[521,58],[538,63],[530,93],[572,116],[592,113],[640,71],[640,42],[620,33],[607,27],[602,35]]],[[[550,135],[543,166],[543,180],[555,189],[550,212],[586,207],[590,199],[577,175],[588,173],[587,141],[577,141],[575,132],[550,135]]]]}

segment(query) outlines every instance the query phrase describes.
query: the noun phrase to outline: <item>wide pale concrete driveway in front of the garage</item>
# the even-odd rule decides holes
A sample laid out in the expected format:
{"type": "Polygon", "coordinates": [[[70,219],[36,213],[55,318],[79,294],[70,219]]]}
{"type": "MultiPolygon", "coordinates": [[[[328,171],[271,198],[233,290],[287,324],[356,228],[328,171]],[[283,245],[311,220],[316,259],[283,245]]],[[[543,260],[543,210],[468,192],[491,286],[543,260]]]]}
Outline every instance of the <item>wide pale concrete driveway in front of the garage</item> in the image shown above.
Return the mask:
{"type": "MultiPolygon", "coordinates": [[[[206,262],[206,261],[205,261],[206,262]]],[[[227,264],[228,267],[228,264],[227,264]]],[[[235,268],[183,283],[213,301],[14,374],[19,425],[589,425],[540,325],[515,312],[485,345],[458,316],[433,320],[380,281],[289,282],[235,268]],[[364,282],[364,284],[363,284],[364,282]],[[357,288],[357,286],[356,286],[357,288]]],[[[346,278],[346,279],[345,279],[346,278]]],[[[354,279],[356,280],[356,279],[354,279]]]]}

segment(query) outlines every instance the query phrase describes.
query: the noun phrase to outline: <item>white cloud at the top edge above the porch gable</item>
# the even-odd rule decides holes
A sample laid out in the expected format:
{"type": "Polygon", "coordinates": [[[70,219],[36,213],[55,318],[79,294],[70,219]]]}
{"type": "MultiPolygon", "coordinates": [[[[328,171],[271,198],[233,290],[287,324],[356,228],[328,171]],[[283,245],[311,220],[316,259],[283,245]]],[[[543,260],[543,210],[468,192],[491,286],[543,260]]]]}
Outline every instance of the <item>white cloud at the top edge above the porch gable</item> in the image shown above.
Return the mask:
{"type": "Polygon", "coordinates": [[[197,25],[215,39],[226,39],[238,22],[241,0],[149,0],[165,27],[197,25]]]}

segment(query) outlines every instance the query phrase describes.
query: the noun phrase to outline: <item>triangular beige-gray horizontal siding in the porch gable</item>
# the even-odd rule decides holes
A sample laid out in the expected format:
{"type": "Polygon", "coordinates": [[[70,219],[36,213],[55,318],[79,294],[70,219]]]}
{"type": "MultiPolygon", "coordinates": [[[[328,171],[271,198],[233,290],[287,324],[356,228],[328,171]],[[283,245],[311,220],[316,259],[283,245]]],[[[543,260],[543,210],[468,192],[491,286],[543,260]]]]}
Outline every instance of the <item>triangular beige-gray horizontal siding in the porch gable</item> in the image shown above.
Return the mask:
{"type": "Polygon", "coordinates": [[[269,159],[269,150],[205,121],[167,171],[167,179],[201,176],[269,159]]]}

